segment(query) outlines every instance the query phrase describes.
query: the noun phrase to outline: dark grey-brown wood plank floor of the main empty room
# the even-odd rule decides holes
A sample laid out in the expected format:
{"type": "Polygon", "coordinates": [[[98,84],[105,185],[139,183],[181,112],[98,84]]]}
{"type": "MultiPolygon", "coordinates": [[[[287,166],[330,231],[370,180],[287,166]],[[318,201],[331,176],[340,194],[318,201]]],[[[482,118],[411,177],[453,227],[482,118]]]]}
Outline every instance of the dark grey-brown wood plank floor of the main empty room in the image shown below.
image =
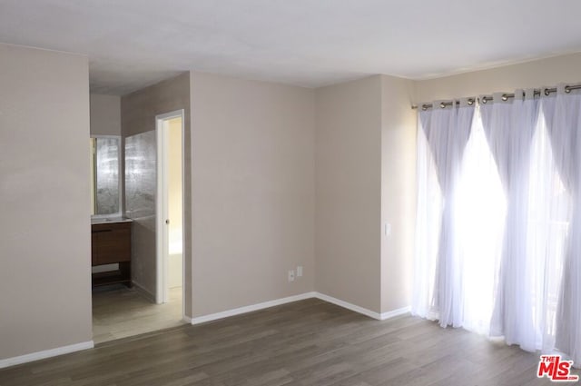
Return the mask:
{"type": "MultiPolygon", "coordinates": [[[[543,385],[538,356],[402,316],[316,299],[0,371],[2,386],[543,385]]],[[[578,372],[577,372],[578,373],[578,372]]]]}

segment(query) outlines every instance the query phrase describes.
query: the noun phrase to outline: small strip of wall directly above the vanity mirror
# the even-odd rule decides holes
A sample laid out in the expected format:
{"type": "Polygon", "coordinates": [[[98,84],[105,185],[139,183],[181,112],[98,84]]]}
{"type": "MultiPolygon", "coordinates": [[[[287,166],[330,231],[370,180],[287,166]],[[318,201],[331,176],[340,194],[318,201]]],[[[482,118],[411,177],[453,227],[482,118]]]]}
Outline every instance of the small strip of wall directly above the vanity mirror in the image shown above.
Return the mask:
{"type": "Polygon", "coordinates": [[[121,135],[121,97],[91,94],[91,135],[121,135]]]}

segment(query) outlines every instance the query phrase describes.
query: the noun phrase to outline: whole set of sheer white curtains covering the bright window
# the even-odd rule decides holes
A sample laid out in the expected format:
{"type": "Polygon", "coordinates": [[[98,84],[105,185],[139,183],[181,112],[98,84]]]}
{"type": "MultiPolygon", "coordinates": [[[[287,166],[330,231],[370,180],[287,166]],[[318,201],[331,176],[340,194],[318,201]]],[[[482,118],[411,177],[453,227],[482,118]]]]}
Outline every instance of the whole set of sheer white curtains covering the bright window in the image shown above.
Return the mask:
{"type": "Polygon", "coordinates": [[[412,312],[579,366],[581,92],[515,95],[419,114],[412,312]]]}

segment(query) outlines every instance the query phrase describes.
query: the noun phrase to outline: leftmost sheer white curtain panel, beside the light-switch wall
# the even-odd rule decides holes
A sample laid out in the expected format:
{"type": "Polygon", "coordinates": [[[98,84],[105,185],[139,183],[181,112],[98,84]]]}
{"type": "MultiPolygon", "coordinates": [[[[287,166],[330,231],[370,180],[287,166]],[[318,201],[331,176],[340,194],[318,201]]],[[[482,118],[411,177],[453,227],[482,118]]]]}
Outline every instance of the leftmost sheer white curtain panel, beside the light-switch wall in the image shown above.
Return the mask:
{"type": "Polygon", "coordinates": [[[435,173],[438,186],[433,178],[419,182],[419,205],[427,208],[428,203],[421,201],[429,198],[436,204],[436,211],[433,208],[428,213],[419,211],[417,240],[420,245],[423,242],[423,245],[416,251],[415,265],[419,277],[416,280],[418,291],[414,295],[412,312],[438,319],[442,326],[459,325],[461,305],[462,277],[457,262],[455,197],[474,106],[468,105],[466,99],[459,102],[459,107],[453,103],[447,108],[419,114],[419,151],[422,152],[419,153],[419,174],[427,177],[427,173],[435,173]],[[439,194],[428,196],[430,191],[439,194]],[[437,213],[441,213],[439,219],[437,213]],[[439,226],[434,223],[438,220],[439,226]],[[438,234],[437,242],[430,239],[434,234],[438,234]]]}

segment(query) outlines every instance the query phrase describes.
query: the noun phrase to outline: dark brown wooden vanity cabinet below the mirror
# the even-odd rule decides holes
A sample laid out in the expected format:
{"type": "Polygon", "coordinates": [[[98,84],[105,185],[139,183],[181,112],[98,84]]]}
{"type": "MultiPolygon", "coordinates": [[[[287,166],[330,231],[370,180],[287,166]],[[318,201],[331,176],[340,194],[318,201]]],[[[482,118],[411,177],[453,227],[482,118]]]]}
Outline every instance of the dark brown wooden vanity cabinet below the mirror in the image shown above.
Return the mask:
{"type": "Polygon", "coordinates": [[[119,264],[117,270],[93,273],[94,287],[114,283],[131,287],[131,225],[131,222],[92,225],[92,265],[119,264]]]}

